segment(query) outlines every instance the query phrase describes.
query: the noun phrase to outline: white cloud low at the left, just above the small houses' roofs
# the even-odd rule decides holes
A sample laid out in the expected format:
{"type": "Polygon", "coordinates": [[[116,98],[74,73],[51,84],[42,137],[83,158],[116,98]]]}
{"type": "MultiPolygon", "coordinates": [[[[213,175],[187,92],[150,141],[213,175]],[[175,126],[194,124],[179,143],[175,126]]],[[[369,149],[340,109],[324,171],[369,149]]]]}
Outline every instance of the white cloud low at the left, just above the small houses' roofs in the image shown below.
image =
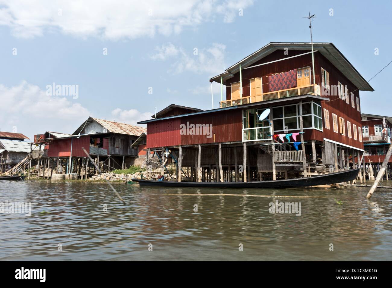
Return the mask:
{"type": "Polygon", "coordinates": [[[0,130],[12,132],[16,127],[31,139],[45,131],[72,133],[90,114],[72,96],[47,96],[25,81],[14,87],[0,84],[0,97],[0,130]]]}

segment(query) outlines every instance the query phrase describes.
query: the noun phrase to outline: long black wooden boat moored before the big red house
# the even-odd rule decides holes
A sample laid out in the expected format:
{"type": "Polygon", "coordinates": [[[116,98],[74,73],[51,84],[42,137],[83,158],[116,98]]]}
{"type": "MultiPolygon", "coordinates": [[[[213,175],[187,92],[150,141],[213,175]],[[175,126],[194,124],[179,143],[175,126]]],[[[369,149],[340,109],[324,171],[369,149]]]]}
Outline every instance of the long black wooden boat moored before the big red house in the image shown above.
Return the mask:
{"type": "Polygon", "coordinates": [[[274,181],[253,181],[253,182],[177,182],[177,181],[155,181],[132,179],[142,187],[208,187],[208,188],[294,188],[309,187],[317,185],[336,184],[352,181],[358,175],[359,168],[334,172],[325,175],[317,175],[306,178],[284,179],[274,181]]]}

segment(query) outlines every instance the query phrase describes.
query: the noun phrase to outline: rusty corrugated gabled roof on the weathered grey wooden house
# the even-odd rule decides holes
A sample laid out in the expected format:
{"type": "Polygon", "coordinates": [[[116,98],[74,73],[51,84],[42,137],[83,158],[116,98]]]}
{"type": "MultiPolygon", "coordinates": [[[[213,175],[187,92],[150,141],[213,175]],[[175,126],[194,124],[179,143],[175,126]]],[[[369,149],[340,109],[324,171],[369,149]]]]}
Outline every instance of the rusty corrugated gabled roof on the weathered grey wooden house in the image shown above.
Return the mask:
{"type": "Polygon", "coordinates": [[[103,128],[106,128],[108,133],[127,134],[134,136],[139,136],[143,132],[147,133],[147,129],[144,127],[89,117],[82,123],[82,125],[80,125],[78,129],[76,129],[75,132],[73,132],[73,135],[79,134],[85,126],[89,125],[93,121],[100,124],[103,128]]]}

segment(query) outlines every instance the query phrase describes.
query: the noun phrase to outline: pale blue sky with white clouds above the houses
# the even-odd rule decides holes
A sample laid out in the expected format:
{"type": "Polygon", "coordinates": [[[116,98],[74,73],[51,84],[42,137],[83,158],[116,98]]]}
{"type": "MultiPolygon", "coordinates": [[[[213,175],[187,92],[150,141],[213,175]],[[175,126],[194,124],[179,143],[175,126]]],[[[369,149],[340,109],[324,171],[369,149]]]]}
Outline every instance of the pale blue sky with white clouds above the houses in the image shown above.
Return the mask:
{"type": "MultiPolygon", "coordinates": [[[[0,131],[135,125],[170,104],[211,109],[209,79],[269,42],[332,42],[366,79],[391,60],[389,1],[0,0],[0,131]],[[51,91],[49,87],[73,88],[51,91]]],[[[392,64],[360,91],[392,116],[392,64]]],[[[220,85],[214,83],[214,108],[220,85]]],[[[225,90],[224,90],[225,91],[225,90]]]]}

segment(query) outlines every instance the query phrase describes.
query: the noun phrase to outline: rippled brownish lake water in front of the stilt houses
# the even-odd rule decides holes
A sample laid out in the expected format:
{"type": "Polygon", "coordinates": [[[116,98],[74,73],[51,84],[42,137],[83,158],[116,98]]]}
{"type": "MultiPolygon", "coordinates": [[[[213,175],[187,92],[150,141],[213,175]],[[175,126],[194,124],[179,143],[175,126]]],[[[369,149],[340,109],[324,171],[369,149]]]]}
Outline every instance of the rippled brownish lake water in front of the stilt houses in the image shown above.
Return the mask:
{"type": "Polygon", "coordinates": [[[32,208],[0,214],[0,260],[392,260],[392,189],[113,186],[127,205],[107,183],[0,181],[0,202],[32,208]]]}

